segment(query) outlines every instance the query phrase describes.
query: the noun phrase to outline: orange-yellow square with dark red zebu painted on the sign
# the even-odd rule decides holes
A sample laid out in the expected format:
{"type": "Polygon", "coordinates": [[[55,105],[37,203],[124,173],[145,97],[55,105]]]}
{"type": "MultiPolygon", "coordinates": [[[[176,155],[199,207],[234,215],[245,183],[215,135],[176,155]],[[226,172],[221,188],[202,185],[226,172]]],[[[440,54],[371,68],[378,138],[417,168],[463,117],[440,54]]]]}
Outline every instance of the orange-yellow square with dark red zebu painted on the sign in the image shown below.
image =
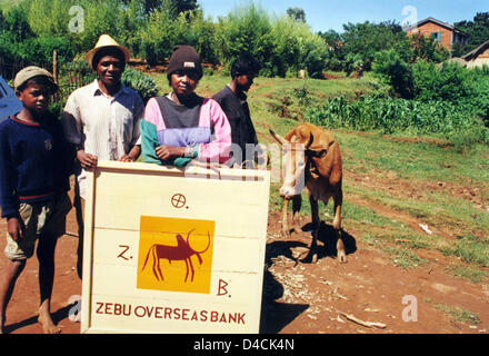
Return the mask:
{"type": "Polygon", "coordinates": [[[214,226],[141,216],[137,287],[210,294],[214,226]]]}

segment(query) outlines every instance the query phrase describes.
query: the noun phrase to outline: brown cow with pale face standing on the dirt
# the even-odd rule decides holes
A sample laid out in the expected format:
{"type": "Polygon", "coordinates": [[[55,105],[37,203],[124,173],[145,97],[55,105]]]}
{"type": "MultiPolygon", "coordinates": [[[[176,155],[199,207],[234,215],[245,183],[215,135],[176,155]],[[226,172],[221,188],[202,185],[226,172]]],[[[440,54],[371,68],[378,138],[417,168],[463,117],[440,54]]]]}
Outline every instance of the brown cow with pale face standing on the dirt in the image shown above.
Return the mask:
{"type": "Polygon", "coordinates": [[[326,205],[330,198],[335,201],[333,228],[337,236],[338,260],[347,261],[347,254],[341,237],[342,162],[338,141],[331,132],[311,123],[301,123],[286,138],[270,130],[271,136],[282,146],[283,185],[280,196],[283,198],[282,234],[290,235],[287,209],[289,200],[293,201],[293,227],[298,231],[298,218],[301,205],[301,192],[306,187],[312,212],[312,243],[306,259],[317,261],[317,238],[320,228],[318,200],[326,205]]]}

